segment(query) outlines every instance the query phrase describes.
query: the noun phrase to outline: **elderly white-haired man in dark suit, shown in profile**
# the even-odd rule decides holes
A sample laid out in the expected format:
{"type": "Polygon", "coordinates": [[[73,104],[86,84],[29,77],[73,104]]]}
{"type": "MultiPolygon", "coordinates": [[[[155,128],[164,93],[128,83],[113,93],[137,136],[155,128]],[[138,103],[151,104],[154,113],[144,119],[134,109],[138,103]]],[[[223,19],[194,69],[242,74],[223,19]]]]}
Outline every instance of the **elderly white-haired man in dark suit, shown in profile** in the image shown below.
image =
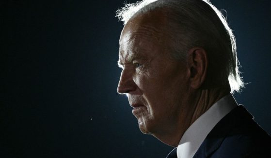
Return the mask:
{"type": "Polygon", "coordinates": [[[207,0],[143,0],[117,12],[117,88],[139,128],[176,148],[168,158],[270,157],[271,138],[236,103],[236,43],[207,0]]]}

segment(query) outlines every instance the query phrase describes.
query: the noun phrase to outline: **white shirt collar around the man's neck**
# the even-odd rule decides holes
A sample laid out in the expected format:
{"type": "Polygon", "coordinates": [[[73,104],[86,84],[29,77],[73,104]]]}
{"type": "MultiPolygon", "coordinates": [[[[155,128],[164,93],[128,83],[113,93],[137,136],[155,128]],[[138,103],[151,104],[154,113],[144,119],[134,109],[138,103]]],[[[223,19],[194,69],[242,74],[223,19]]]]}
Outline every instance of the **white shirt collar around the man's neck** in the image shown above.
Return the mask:
{"type": "Polygon", "coordinates": [[[212,105],[185,131],[177,147],[177,157],[192,158],[207,134],[237,105],[231,94],[224,96],[212,105]]]}

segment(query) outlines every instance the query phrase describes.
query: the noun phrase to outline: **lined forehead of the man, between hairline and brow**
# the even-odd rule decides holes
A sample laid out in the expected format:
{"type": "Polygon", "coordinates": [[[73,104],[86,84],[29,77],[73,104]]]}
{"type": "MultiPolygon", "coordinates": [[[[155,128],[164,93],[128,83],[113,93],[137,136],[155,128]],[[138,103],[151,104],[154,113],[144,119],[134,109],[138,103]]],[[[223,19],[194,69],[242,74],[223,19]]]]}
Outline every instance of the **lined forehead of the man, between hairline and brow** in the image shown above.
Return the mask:
{"type": "Polygon", "coordinates": [[[158,47],[161,49],[166,41],[165,24],[166,19],[160,11],[130,19],[120,36],[120,61],[127,56],[139,56],[158,47]]]}

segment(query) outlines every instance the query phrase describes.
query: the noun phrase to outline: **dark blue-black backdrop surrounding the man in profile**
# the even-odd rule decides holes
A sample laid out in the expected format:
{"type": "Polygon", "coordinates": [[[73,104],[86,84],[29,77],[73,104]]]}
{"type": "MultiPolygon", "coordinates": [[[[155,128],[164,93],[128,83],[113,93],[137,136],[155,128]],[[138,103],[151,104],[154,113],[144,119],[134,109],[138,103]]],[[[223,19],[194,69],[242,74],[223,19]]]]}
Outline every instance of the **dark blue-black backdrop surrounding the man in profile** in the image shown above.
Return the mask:
{"type": "MultiPolygon", "coordinates": [[[[136,0],[128,0],[135,2],[136,0]]],[[[115,11],[124,0],[0,2],[1,158],[164,158],[116,93],[115,11]]],[[[271,133],[270,0],[212,0],[228,13],[240,71],[236,100],[271,133]]]]}

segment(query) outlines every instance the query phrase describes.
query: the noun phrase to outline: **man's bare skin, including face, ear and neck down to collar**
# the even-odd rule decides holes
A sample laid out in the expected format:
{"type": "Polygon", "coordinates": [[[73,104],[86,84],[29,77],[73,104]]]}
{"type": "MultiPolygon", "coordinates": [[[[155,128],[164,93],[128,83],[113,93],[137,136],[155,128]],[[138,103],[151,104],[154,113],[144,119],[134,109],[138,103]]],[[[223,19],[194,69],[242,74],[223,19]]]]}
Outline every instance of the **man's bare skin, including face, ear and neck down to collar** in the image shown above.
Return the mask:
{"type": "Polygon", "coordinates": [[[203,48],[191,48],[185,62],[172,59],[166,24],[160,11],[128,21],[120,37],[123,70],[117,91],[127,95],[131,106],[140,107],[132,112],[143,133],[177,146],[186,129],[230,89],[201,87],[207,71],[203,48]]]}

